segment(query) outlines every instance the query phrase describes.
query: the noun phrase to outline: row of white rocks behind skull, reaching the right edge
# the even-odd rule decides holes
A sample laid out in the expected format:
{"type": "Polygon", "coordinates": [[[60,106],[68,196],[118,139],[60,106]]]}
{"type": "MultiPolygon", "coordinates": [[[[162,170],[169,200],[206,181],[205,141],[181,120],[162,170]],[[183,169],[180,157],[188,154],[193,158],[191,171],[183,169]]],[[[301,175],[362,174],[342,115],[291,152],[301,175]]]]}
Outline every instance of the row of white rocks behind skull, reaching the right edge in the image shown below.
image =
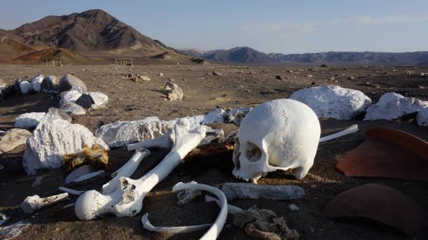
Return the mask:
{"type": "Polygon", "coordinates": [[[372,105],[371,99],[361,91],[327,85],[295,91],[290,98],[311,107],[318,117],[350,120],[366,112],[364,120],[392,120],[418,112],[418,124],[428,125],[428,101],[406,98],[399,93],[385,93],[372,105]]]}

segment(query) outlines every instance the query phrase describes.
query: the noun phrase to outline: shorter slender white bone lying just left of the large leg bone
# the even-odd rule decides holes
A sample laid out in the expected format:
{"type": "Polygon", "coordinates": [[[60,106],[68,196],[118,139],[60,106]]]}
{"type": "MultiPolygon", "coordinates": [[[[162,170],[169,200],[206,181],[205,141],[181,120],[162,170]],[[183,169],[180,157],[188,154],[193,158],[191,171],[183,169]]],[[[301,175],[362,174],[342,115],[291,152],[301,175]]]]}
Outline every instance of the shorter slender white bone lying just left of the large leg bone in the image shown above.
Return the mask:
{"type": "Polygon", "coordinates": [[[127,161],[127,163],[120,167],[119,171],[116,172],[115,177],[103,185],[101,193],[104,195],[113,193],[119,184],[119,179],[121,177],[131,177],[138,165],[140,165],[141,161],[149,154],[150,151],[148,151],[148,149],[136,149],[134,155],[127,161]]]}

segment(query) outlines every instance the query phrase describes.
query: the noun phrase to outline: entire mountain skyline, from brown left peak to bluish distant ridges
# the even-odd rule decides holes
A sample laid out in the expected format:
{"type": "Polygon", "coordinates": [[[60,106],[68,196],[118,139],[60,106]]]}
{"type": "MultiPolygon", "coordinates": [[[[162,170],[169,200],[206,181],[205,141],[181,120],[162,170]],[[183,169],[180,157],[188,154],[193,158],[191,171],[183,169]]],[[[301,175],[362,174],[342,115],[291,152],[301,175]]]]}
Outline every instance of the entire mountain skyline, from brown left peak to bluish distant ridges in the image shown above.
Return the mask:
{"type": "Polygon", "coordinates": [[[250,47],[229,50],[174,50],[144,36],[104,10],[43,17],[12,30],[0,29],[0,62],[36,63],[59,58],[68,62],[92,59],[136,58],[151,61],[187,61],[243,64],[428,65],[428,52],[319,52],[281,54],[250,47]]]}

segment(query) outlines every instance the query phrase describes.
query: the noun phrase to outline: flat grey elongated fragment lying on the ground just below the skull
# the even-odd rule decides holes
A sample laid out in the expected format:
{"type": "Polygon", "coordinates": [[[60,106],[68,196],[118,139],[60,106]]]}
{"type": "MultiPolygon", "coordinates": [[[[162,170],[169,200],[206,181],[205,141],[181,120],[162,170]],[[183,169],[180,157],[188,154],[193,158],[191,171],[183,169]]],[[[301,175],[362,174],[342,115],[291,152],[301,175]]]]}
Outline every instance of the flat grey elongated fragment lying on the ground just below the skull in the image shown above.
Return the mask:
{"type": "Polygon", "coordinates": [[[259,199],[295,200],[304,197],[305,190],[292,185],[258,185],[254,183],[224,183],[222,191],[227,200],[259,199]]]}

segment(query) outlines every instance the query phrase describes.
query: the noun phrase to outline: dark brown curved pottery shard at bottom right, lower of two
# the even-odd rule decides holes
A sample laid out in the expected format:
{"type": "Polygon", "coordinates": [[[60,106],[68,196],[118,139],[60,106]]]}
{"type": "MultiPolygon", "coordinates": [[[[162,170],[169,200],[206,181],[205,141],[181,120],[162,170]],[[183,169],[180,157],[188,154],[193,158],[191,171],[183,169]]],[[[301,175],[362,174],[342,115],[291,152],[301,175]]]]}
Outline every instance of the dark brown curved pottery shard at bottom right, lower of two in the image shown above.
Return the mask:
{"type": "Polygon", "coordinates": [[[340,193],[325,206],[328,218],[369,218],[411,234],[424,218],[422,207],[399,190],[369,183],[340,193]]]}

